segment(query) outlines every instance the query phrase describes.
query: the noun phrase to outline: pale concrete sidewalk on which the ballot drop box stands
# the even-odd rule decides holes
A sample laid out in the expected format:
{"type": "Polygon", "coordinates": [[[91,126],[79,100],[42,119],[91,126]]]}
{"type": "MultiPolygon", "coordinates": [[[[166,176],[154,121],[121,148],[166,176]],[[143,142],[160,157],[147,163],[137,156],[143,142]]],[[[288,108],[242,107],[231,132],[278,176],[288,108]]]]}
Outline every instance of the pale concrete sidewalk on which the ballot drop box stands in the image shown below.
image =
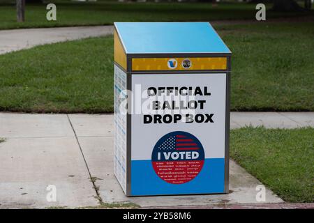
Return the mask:
{"type": "MultiPolygon", "coordinates": [[[[232,112],[232,128],[245,125],[314,127],[314,112],[232,112]]],[[[112,174],[113,135],[112,114],[0,113],[0,208],[75,208],[99,199],[141,207],[257,203],[261,183],[233,161],[230,194],[128,198],[112,174]],[[57,201],[47,201],[47,185],[56,187],[57,201]]],[[[281,202],[267,190],[266,203],[281,202]]]]}

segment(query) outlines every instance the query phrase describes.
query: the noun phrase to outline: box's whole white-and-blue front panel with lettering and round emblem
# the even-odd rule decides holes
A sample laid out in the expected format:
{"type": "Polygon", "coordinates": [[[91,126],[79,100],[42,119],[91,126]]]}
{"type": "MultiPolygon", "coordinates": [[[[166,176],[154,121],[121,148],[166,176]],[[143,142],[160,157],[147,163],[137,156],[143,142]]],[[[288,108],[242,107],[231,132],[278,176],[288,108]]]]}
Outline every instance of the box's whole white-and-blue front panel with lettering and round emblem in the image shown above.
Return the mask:
{"type": "Polygon", "coordinates": [[[226,74],[132,74],[131,196],[223,193],[226,74]]]}

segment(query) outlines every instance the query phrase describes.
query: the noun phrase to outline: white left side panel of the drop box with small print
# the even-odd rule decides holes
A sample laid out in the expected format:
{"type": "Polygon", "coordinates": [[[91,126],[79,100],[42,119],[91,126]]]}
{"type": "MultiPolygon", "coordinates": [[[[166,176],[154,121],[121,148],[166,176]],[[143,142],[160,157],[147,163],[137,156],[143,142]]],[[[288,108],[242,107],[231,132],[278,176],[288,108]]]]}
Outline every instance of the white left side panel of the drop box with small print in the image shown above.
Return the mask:
{"type": "Polygon", "coordinates": [[[126,72],[114,65],[114,175],[126,193],[126,72]]]}

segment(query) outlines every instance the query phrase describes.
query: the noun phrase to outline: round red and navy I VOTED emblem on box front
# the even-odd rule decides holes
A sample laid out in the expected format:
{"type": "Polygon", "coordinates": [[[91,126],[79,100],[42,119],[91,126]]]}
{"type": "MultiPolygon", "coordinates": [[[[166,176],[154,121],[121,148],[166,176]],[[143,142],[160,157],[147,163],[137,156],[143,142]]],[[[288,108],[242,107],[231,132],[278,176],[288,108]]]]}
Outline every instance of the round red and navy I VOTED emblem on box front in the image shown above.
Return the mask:
{"type": "Polygon", "coordinates": [[[193,134],[170,132],[157,141],[151,162],[156,174],[165,182],[187,183],[202,170],[204,148],[193,134]]]}

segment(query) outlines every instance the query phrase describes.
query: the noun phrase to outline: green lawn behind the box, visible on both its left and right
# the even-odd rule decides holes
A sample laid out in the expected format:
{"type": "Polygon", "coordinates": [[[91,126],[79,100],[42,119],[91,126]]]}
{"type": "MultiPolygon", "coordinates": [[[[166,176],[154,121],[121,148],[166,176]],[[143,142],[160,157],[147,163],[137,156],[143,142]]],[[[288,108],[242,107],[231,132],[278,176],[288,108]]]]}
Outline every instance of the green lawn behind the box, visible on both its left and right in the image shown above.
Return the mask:
{"type": "MultiPolygon", "coordinates": [[[[216,29],[233,52],[233,111],[314,111],[313,24],[216,29]]],[[[112,60],[112,36],[0,55],[0,110],[113,112],[112,60]]]]}

